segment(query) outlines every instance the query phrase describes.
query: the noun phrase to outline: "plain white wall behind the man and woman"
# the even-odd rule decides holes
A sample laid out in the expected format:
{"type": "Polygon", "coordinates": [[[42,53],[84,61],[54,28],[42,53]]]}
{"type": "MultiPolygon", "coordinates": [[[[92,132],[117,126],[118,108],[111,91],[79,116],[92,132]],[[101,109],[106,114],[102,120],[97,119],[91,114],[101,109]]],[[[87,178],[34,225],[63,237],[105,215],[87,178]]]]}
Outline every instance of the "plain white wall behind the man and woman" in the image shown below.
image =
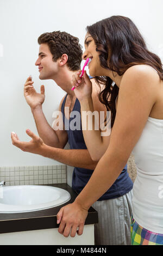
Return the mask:
{"type": "Polygon", "coordinates": [[[84,46],[85,27],[111,15],[128,16],[135,22],[149,48],[163,56],[162,0],[1,0],[0,2],[0,166],[54,164],[53,160],[24,153],[11,144],[10,132],[29,141],[26,129],[37,134],[30,108],[23,97],[29,75],[40,91],[45,84],[43,111],[52,125],[52,113],[65,93],[53,81],[39,80],[34,65],[44,32],[66,31],[84,46]],[[2,49],[3,48],[3,49],[2,49]]]}

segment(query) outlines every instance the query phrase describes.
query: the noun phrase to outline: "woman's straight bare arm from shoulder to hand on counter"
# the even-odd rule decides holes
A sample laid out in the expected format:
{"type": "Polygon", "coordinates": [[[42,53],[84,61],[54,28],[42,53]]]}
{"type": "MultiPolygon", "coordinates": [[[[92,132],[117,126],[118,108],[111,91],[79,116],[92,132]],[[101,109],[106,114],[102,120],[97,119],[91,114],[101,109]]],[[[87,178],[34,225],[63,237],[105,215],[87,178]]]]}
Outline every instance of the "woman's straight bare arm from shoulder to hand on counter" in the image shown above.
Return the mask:
{"type": "Polygon", "coordinates": [[[59,232],[68,236],[83,233],[87,210],[114,183],[139,140],[156,101],[156,77],[145,65],[133,66],[124,74],[118,96],[110,144],[89,182],[73,204],[61,208],[59,232]]]}

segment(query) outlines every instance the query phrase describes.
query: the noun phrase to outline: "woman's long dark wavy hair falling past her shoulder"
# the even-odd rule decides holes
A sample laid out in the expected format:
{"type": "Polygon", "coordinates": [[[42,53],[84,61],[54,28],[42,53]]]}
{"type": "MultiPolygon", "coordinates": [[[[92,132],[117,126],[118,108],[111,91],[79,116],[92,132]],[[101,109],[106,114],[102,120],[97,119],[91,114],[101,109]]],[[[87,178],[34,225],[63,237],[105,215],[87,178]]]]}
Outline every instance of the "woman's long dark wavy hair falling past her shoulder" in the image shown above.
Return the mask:
{"type": "MultiPolygon", "coordinates": [[[[139,30],[128,17],[111,16],[86,27],[92,36],[99,52],[101,66],[117,72],[122,76],[124,72],[134,65],[146,64],[152,66],[161,80],[163,70],[161,60],[156,54],[148,51],[145,40],[139,30]],[[109,57],[109,64],[107,62],[109,57]]],[[[105,84],[104,90],[99,93],[99,100],[111,111],[111,127],[116,115],[116,97],[119,88],[110,77],[95,77],[97,83],[105,84]]]]}

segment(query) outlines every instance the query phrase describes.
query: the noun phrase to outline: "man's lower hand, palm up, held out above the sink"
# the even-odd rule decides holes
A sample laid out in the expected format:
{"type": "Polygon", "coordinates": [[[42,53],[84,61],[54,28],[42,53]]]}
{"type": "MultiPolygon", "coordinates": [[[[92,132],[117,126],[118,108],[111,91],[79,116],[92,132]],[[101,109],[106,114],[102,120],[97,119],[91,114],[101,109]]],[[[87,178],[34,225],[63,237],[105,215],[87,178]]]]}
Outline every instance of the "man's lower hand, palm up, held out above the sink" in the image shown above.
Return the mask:
{"type": "Polygon", "coordinates": [[[17,148],[20,148],[22,151],[41,155],[43,145],[45,145],[45,143],[43,143],[42,139],[39,136],[36,136],[29,129],[26,130],[26,132],[32,138],[30,142],[21,142],[16,133],[11,132],[12,144],[17,148]]]}

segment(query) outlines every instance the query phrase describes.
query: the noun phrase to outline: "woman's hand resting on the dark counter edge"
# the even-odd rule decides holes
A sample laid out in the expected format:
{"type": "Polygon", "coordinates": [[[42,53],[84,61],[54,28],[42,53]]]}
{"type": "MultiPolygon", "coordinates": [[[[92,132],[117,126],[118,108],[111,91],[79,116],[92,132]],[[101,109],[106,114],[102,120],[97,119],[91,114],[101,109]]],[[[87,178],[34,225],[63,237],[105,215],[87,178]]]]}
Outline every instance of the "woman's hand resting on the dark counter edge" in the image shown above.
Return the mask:
{"type": "Polygon", "coordinates": [[[74,237],[76,233],[82,235],[87,214],[87,209],[82,208],[77,202],[62,207],[57,214],[57,224],[60,223],[59,233],[65,237],[74,237]]]}

